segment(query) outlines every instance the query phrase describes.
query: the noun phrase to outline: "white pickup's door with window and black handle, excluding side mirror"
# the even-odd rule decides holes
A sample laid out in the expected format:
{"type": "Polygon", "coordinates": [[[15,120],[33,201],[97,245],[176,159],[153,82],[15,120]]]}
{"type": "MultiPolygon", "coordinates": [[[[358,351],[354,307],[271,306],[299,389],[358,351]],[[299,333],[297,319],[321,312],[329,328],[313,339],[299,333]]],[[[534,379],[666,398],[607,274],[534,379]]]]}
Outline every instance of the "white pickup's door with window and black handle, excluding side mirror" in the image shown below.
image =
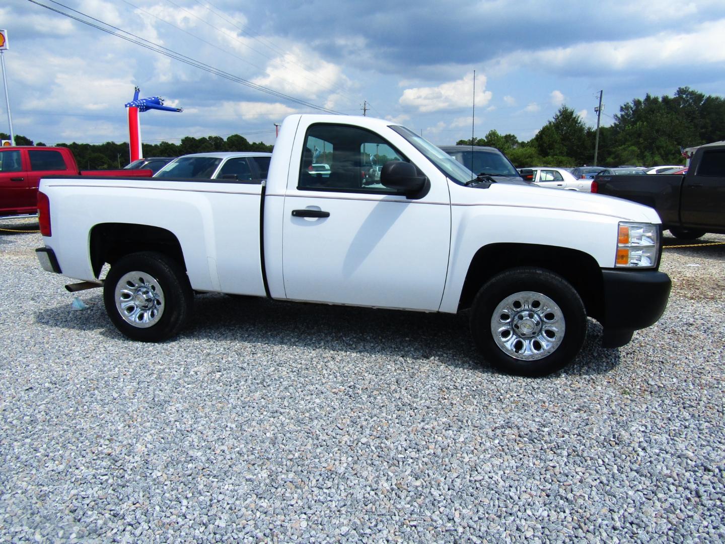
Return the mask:
{"type": "Polygon", "coordinates": [[[303,143],[284,197],[286,297],[438,310],[451,229],[444,176],[425,197],[408,199],[374,175],[376,165],[407,160],[378,134],[315,123],[303,143]],[[313,159],[329,170],[312,169],[313,159]]]}

